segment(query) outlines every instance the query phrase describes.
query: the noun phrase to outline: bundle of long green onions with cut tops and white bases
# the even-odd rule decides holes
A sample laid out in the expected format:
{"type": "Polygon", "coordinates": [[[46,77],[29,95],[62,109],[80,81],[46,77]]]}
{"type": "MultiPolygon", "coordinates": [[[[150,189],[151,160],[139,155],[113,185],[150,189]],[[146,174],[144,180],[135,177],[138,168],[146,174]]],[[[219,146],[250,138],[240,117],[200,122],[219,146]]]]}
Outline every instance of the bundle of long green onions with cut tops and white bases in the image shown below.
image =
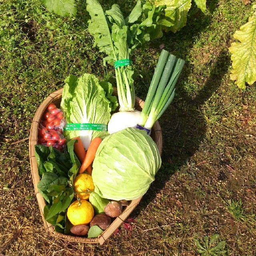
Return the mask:
{"type": "Polygon", "coordinates": [[[138,124],[150,130],[174,98],[174,87],[185,61],[162,50],[138,124]]]}

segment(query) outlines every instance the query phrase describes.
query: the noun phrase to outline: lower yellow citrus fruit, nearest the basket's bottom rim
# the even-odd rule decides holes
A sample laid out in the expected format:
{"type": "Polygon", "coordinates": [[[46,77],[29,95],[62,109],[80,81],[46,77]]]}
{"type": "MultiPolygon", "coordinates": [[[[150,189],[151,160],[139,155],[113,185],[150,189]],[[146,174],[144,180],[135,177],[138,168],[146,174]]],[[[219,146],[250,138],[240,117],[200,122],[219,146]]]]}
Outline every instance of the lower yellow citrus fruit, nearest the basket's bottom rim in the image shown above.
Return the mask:
{"type": "Polygon", "coordinates": [[[87,225],[94,216],[94,210],[88,201],[76,200],[68,207],[67,216],[73,225],[87,225]]]}

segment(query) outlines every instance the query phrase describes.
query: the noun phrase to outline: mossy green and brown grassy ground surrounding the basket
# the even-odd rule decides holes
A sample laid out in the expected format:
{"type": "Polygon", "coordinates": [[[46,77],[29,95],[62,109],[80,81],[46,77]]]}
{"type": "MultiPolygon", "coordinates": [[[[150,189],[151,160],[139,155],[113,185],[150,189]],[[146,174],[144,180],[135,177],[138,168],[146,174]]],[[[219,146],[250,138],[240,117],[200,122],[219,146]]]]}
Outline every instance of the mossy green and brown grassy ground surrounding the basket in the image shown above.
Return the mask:
{"type": "MultiPolygon", "coordinates": [[[[117,2],[128,12],[134,1],[117,2]]],[[[256,255],[256,86],[230,80],[232,34],[251,14],[241,0],[193,6],[186,27],[133,56],[136,94],[145,99],[159,45],[186,65],[160,118],[162,168],[130,217],[104,245],[68,243],[47,234],[34,195],[28,138],[36,109],[69,74],[114,72],[87,33],[88,14],[60,19],[37,0],[0,0],[0,253],[10,256],[200,255],[196,234],[219,234],[232,256],[256,255]],[[21,141],[23,140],[23,141],[21,141]],[[15,143],[15,144],[13,144],[15,143]],[[21,233],[19,232],[21,230],[21,233]]]]}

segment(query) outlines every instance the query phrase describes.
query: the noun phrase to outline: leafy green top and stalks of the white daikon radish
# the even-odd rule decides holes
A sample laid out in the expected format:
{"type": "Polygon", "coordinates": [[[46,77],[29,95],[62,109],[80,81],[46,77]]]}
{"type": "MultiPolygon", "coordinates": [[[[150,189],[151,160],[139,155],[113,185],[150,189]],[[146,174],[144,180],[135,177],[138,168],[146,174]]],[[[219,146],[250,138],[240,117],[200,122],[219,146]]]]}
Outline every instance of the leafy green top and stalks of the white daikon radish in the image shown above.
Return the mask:
{"type": "MultiPolygon", "coordinates": [[[[130,60],[135,48],[144,48],[150,38],[159,36],[156,26],[164,6],[142,5],[139,0],[124,18],[117,4],[104,12],[98,1],[86,0],[86,3],[91,16],[88,31],[94,36],[94,46],[107,55],[103,59],[104,64],[114,65],[118,60],[130,60]]],[[[120,111],[133,111],[135,91],[132,66],[116,67],[115,72],[120,111]]]]}

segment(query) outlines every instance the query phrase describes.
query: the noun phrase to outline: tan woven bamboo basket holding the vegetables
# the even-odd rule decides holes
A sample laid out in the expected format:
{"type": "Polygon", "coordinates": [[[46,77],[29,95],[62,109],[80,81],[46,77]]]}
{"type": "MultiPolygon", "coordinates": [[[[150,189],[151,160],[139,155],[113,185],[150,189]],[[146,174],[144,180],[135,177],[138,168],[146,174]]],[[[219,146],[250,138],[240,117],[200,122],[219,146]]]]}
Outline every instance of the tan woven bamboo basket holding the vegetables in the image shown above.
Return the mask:
{"type": "MultiPolygon", "coordinates": [[[[134,210],[134,208],[139,204],[140,200],[142,199],[142,196],[140,198],[137,198],[135,200],[131,200],[129,206],[126,206],[126,208],[123,210],[122,214],[118,216],[112,224],[100,234],[97,238],[85,238],[85,237],[79,237],[79,236],[72,236],[72,235],[65,235],[61,234],[59,232],[54,231],[54,226],[44,219],[44,206],[46,205],[46,202],[42,195],[38,192],[37,184],[40,181],[39,175],[38,175],[38,165],[35,158],[35,145],[37,144],[37,138],[38,138],[38,128],[40,120],[50,103],[54,103],[57,107],[60,106],[61,97],[62,97],[62,90],[57,90],[56,92],[53,92],[48,96],[42,104],[39,106],[38,110],[36,111],[36,114],[34,116],[31,129],[30,129],[30,138],[29,138],[29,154],[30,154],[30,168],[33,178],[33,184],[35,189],[36,198],[38,201],[39,209],[41,212],[42,220],[44,222],[44,227],[47,232],[52,234],[55,237],[58,237],[60,239],[70,241],[70,242],[82,242],[82,243],[90,243],[90,244],[103,244],[113,233],[114,231],[128,218],[128,216],[131,214],[131,212],[134,210]]],[[[117,96],[117,90],[114,88],[114,95],[117,96]]],[[[137,110],[142,110],[142,107],[144,105],[144,101],[140,98],[136,97],[135,102],[135,108],[137,110]]],[[[162,154],[162,130],[160,127],[160,124],[158,121],[154,124],[152,131],[151,131],[151,137],[156,142],[156,145],[158,147],[158,150],[160,152],[160,155],[162,154]]]]}

